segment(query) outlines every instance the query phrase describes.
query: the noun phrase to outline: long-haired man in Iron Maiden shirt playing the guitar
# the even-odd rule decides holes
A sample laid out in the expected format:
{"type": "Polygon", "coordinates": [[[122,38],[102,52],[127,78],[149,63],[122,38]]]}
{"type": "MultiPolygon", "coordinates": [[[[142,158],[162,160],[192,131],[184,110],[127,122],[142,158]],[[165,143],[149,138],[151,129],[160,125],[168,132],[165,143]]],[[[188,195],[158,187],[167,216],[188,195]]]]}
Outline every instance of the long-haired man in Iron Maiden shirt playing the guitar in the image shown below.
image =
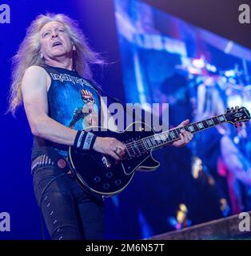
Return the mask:
{"type": "MultiPolygon", "coordinates": [[[[23,101],[34,134],[34,193],[56,240],[104,238],[104,201],[78,186],[66,162],[68,147],[94,149],[118,161],[125,154],[117,139],[82,131],[102,110],[90,64],[103,61],[76,24],[64,14],[39,15],[14,56],[10,90],[9,110],[14,114],[23,101]]],[[[185,146],[192,136],[184,131],[173,146],[185,146]]]]}

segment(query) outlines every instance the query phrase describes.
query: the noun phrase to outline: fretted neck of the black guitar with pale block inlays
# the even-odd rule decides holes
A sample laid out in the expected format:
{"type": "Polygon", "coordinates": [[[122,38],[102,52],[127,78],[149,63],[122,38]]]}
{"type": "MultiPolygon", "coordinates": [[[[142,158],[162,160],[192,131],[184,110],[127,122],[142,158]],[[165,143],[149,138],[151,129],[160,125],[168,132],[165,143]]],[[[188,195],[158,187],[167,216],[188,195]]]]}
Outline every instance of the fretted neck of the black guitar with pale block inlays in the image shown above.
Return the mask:
{"type": "Polygon", "coordinates": [[[154,134],[149,137],[141,138],[141,142],[143,142],[145,150],[156,149],[158,147],[165,146],[166,144],[175,142],[180,139],[181,130],[186,130],[189,131],[191,134],[195,134],[201,130],[208,129],[225,122],[227,122],[225,114],[220,114],[213,118],[208,118],[200,122],[190,123],[188,126],[174,128],[159,134],[154,134]]]}

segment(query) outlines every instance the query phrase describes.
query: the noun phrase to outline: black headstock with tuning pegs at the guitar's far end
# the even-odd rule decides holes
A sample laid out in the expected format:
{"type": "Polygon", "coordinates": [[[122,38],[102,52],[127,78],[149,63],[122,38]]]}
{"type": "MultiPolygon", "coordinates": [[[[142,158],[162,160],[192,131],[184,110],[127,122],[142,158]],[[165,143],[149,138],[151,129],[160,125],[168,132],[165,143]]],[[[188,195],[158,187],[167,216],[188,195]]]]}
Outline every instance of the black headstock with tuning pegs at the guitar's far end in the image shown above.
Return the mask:
{"type": "Polygon", "coordinates": [[[241,122],[249,122],[250,114],[244,106],[236,106],[235,108],[231,107],[225,110],[225,119],[227,122],[235,126],[240,126],[241,122]]]}

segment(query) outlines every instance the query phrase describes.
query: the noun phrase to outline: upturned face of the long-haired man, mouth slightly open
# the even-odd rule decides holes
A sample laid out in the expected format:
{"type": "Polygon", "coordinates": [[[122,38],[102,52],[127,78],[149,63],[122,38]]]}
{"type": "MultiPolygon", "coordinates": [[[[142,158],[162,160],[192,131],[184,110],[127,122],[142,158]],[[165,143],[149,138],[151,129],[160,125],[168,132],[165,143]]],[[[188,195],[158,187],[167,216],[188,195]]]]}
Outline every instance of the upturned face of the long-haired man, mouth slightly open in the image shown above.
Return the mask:
{"type": "Polygon", "coordinates": [[[40,43],[40,51],[46,60],[72,54],[72,42],[61,22],[48,22],[42,26],[40,43]]]}

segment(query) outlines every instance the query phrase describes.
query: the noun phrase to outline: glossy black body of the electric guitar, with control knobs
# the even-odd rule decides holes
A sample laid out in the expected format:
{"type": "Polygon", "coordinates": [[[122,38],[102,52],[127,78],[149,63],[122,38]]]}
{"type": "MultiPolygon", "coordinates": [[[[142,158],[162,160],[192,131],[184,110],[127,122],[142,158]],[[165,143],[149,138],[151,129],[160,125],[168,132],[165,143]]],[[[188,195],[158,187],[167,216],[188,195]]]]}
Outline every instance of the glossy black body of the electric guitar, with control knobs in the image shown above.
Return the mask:
{"type": "MultiPolygon", "coordinates": [[[[124,143],[132,142],[132,145],[138,139],[154,134],[153,130],[143,122],[133,122],[122,132],[111,130],[105,132],[92,130],[92,132],[100,137],[117,138],[124,143]]],[[[104,196],[113,196],[124,190],[129,185],[136,170],[156,170],[160,165],[159,162],[153,159],[151,150],[144,154],[135,150],[135,154],[130,154],[129,158],[116,163],[114,158],[95,150],[86,150],[86,152],[79,153],[79,151],[70,147],[69,159],[78,183],[104,196]]]]}

